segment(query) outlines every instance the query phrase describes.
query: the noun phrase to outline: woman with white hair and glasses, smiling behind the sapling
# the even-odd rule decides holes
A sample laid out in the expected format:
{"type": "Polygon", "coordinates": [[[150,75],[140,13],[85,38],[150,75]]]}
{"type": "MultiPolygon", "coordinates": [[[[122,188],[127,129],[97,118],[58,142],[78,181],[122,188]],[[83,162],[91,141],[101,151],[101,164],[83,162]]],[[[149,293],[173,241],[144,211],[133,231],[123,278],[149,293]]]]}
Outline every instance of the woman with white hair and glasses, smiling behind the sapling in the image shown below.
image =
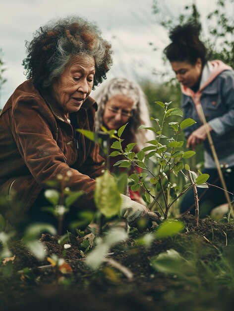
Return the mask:
{"type": "MultiPolygon", "coordinates": [[[[154,139],[154,134],[149,130],[139,130],[140,125],[152,126],[149,117],[148,102],[141,87],[134,81],[126,78],[113,78],[103,87],[98,89],[93,95],[98,104],[96,114],[96,131],[102,127],[108,130],[118,130],[122,125],[127,123],[121,138],[123,149],[130,143],[137,143],[133,151],[135,153],[146,147],[147,141],[154,139]]],[[[102,133],[102,132],[101,132],[102,133]]],[[[105,135],[101,134],[105,139],[105,135]]],[[[106,139],[108,139],[106,135],[106,139]]],[[[107,141],[107,155],[110,154],[112,141],[107,141]]],[[[123,159],[122,156],[106,157],[108,168],[117,173],[120,168],[114,166],[114,163],[123,159]],[[118,171],[117,171],[118,170],[118,171]]],[[[121,171],[126,168],[121,168],[121,171]]],[[[132,171],[129,171],[132,173],[132,171]]],[[[139,192],[130,191],[130,198],[137,202],[143,203],[139,192]]]]}

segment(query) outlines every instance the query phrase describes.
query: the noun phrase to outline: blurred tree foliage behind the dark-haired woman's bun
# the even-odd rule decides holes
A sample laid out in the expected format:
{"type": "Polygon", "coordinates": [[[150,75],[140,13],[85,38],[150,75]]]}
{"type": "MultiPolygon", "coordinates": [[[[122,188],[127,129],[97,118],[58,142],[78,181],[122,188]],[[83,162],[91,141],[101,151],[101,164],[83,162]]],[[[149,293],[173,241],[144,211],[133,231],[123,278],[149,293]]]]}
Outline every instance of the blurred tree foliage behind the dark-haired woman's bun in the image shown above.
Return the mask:
{"type": "MultiPolygon", "coordinates": [[[[234,68],[234,0],[216,0],[216,7],[206,15],[205,22],[201,21],[201,13],[198,11],[195,1],[184,6],[184,10],[178,16],[167,8],[164,11],[163,0],[153,0],[153,13],[157,16],[157,22],[170,31],[178,24],[195,22],[201,26],[201,37],[208,47],[211,59],[220,59],[234,68]],[[208,31],[208,38],[204,35],[208,31]]],[[[211,5],[213,8],[213,5],[211,5]]]]}

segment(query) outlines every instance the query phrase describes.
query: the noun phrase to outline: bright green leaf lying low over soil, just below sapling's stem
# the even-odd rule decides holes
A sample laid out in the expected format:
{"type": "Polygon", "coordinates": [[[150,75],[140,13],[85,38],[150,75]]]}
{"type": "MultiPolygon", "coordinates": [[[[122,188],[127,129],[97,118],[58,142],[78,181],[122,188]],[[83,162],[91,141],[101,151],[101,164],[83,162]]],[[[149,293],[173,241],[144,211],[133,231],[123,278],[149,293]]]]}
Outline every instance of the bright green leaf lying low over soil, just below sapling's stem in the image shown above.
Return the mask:
{"type": "Polygon", "coordinates": [[[173,236],[181,232],[184,228],[184,224],[180,221],[169,222],[165,221],[160,225],[155,233],[157,238],[165,238],[168,236],[173,236]]]}

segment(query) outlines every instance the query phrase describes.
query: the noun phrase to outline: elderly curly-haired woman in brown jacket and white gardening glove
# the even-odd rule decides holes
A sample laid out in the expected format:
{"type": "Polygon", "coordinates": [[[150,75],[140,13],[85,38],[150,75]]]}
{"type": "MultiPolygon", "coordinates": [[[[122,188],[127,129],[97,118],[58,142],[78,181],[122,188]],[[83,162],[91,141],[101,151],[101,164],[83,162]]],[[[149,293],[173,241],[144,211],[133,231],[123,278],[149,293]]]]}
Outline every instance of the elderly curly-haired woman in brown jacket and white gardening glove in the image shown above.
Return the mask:
{"type": "MultiPolygon", "coordinates": [[[[95,178],[105,166],[98,145],[76,129],[95,128],[97,104],[89,94],[106,78],[112,50],[96,24],[79,16],[50,21],[26,47],[27,80],[0,115],[0,197],[5,202],[0,213],[12,223],[26,215],[28,222],[51,222],[41,211],[43,192],[58,175],[69,175],[71,191],[83,191],[73,203],[75,212],[95,209],[95,178]]],[[[124,195],[120,214],[131,226],[142,217],[157,219],[124,195]]]]}

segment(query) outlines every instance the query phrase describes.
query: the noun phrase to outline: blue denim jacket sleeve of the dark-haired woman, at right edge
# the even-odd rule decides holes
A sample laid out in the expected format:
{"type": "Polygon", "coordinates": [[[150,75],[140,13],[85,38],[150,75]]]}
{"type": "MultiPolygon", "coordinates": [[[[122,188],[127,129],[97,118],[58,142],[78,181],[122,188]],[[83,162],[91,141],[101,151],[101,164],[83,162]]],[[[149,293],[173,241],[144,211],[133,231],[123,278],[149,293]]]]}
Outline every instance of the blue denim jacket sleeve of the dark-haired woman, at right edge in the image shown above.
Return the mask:
{"type": "Polygon", "coordinates": [[[222,76],[220,83],[222,104],[227,107],[227,113],[209,121],[217,135],[224,135],[234,130],[234,71],[228,71],[222,76]]]}

